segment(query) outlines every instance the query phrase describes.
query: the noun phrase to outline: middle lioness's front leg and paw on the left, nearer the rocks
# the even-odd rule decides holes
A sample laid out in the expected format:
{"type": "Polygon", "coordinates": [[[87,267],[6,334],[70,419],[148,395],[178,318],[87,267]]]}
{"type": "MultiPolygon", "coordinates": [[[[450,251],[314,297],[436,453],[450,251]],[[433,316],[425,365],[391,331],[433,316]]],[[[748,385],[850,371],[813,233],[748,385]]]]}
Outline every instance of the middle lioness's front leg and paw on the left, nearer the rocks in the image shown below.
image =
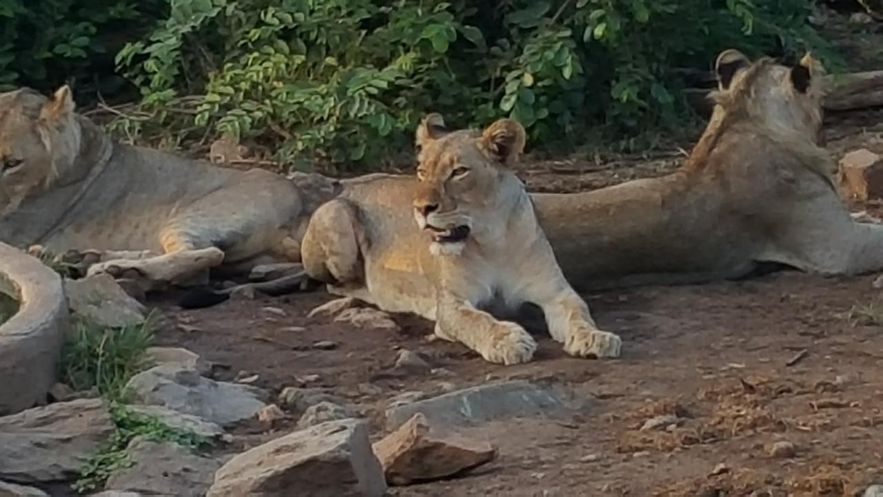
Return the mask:
{"type": "Polygon", "coordinates": [[[491,363],[527,363],[537,349],[537,342],[521,326],[500,321],[451,295],[439,299],[435,334],[464,344],[491,363]]]}

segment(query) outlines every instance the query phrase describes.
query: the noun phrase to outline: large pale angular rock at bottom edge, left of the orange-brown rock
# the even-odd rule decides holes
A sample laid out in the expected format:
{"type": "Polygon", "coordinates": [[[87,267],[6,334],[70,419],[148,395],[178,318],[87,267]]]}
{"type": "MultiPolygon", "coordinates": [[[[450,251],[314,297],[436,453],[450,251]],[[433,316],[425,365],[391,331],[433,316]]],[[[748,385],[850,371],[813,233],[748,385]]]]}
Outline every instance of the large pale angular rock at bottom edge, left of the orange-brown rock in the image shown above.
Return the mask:
{"type": "Polygon", "coordinates": [[[381,497],[386,489],[367,424],[347,419],[317,424],[237,455],[215,473],[207,497],[381,497]]]}

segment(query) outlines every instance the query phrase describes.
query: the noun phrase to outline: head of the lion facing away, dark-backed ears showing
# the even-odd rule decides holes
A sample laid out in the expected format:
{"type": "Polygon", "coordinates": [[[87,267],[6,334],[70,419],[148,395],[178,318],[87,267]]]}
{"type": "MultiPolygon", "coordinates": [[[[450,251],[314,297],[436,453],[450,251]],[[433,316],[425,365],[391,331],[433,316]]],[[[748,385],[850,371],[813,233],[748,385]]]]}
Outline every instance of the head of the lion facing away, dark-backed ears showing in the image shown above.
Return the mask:
{"type": "Polygon", "coordinates": [[[811,54],[787,66],[770,58],[752,62],[738,50],[724,50],[714,69],[718,79],[718,91],[713,94],[715,114],[726,112],[773,132],[819,139],[824,69],[811,54]]]}

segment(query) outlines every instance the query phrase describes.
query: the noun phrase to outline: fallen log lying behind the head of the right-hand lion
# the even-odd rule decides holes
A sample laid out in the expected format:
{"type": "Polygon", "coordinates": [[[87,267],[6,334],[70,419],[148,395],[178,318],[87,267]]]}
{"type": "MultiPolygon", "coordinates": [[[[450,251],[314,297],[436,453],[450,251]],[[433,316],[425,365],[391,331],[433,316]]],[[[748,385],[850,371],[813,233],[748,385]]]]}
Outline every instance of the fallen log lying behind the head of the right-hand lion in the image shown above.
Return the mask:
{"type": "MultiPolygon", "coordinates": [[[[825,97],[826,111],[850,111],[883,106],[883,71],[832,74],[825,77],[830,88],[825,97]]],[[[712,88],[687,88],[683,91],[687,102],[703,115],[711,113],[712,88]]]]}

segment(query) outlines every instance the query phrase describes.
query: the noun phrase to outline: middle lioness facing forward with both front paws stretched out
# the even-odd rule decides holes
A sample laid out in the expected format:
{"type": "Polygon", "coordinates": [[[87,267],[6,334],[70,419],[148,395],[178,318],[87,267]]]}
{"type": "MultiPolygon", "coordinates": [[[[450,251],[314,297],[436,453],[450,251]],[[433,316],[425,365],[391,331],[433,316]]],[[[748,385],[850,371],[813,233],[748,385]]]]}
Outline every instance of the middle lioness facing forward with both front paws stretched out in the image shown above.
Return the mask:
{"type": "Polygon", "coordinates": [[[537,345],[521,326],[479,309],[492,303],[539,305],[571,355],[619,356],[619,337],[595,326],[564,279],[511,169],[525,128],[502,119],[480,134],[448,133],[432,114],[417,143],[416,181],[351,181],[315,211],[302,245],[307,274],[333,293],[434,320],[436,336],[493,363],[527,362],[537,345]]]}

